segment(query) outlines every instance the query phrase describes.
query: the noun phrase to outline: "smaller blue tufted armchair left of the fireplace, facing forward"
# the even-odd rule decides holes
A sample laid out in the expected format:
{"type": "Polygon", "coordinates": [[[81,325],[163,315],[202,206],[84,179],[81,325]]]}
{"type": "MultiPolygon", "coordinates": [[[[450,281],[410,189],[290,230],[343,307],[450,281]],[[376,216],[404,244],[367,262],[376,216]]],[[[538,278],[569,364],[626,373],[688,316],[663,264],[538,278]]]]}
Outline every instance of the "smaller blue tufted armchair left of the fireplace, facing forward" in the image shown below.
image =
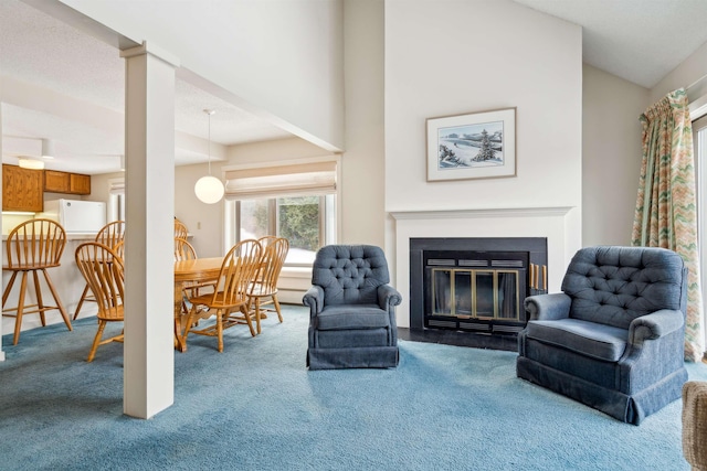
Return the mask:
{"type": "Polygon", "coordinates": [[[328,245],[317,251],[309,307],[309,370],[398,365],[395,306],[386,254],[370,245],[328,245]]]}

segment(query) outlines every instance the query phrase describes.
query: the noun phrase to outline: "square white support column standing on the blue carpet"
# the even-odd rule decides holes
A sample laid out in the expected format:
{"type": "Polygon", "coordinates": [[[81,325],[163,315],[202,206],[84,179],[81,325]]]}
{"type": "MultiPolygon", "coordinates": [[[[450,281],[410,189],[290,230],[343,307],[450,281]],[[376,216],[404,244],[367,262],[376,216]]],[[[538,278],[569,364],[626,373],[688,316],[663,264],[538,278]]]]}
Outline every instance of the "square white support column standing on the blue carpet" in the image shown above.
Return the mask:
{"type": "Polygon", "coordinates": [[[150,418],[175,402],[175,68],[143,43],[126,61],[123,411],[150,418]]]}

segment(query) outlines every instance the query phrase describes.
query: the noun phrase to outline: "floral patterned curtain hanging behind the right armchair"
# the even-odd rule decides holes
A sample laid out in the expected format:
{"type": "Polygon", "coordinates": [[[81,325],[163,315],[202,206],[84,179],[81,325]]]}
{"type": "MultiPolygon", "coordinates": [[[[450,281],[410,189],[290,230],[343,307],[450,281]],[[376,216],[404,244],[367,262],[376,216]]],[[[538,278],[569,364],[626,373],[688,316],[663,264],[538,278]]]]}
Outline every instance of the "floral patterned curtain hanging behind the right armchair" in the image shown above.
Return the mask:
{"type": "Polygon", "coordinates": [[[641,115],[643,164],[633,221],[634,246],[663,247],[678,253],[687,276],[685,360],[704,352],[703,299],[697,239],[697,200],[693,126],[687,93],[669,93],[641,115]]]}

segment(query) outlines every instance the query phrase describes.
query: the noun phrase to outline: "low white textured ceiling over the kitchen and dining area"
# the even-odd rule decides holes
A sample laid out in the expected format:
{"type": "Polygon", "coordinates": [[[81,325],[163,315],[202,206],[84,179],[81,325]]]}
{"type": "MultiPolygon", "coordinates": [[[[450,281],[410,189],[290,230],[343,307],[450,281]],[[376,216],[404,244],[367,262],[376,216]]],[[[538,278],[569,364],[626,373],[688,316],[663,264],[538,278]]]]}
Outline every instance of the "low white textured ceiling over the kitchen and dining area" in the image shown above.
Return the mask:
{"type": "MultiPolygon", "coordinates": [[[[51,90],[91,116],[57,116],[50,104],[10,98],[2,108],[3,161],[17,162],[13,138],[49,138],[57,158],[46,168],[104,173],[119,169],[124,153],[125,63],[119,51],[19,0],[0,0],[0,73],[29,89],[51,90]],[[14,100],[14,101],[13,101],[14,100]],[[101,118],[97,119],[97,116],[101,118]],[[7,142],[6,142],[7,141],[7,142]]],[[[67,106],[64,106],[66,108],[67,106]]],[[[175,128],[182,138],[211,139],[224,146],[292,137],[291,133],[177,78],[175,128]]],[[[176,163],[205,161],[207,142],[177,148],[176,163]]],[[[178,137],[179,141],[179,137],[178,137]]],[[[38,140],[38,142],[40,142],[38,140]]],[[[215,157],[215,156],[212,156],[215,157]]]]}

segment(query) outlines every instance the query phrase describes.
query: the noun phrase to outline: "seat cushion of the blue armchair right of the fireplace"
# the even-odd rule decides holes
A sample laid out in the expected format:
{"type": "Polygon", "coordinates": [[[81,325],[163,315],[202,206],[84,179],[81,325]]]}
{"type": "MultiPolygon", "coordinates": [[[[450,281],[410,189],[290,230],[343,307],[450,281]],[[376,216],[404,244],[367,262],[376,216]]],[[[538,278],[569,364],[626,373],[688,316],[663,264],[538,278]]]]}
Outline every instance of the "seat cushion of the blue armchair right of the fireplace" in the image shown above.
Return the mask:
{"type": "Polygon", "coordinates": [[[528,338],[606,362],[618,362],[626,350],[629,331],[579,319],[529,321],[528,338]]]}

